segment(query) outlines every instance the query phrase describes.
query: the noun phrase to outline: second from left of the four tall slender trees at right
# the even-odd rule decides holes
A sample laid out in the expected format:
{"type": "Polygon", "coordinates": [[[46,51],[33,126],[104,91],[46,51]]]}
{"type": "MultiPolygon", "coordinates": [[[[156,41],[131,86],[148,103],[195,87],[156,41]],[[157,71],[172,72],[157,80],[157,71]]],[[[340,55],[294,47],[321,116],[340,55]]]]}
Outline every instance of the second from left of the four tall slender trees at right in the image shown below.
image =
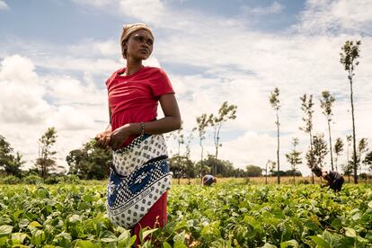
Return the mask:
{"type": "MultiPolygon", "coordinates": [[[[313,135],[312,135],[312,130],[313,130],[313,113],[314,113],[314,110],[313,110],[313,106],[314,106],[314,102],[313,102],[313,95],[310,94],[309,97],[307,97],[306,94],[304,94],[303,96],[300,97],[300,100],[301,100],[301,110],[304,111],[304,114],[305,114],[305,117],[302,118],[302,120],[305,121],[305,127],[300,127],[299,129],[300,130],[303,130],[305,131],[305,133],[308,133],[309,134],[309,138],[310,138],[310,147],[309,147],[309,151],[308,153],[312,154],[312,150],[313,150],[313,135]]],[[[311,159],[312,156],[306,156],[306,159],[309,158],[311,159]]],[[[311,164],[313,163],[312,160],[307,160],[307,164],[311,164]]],[[[313,167],[313,165],[309,165],[311,167],[313,167]]],[[[314,173],[312,173],[312,182],[314,183],[314,173]]]]}

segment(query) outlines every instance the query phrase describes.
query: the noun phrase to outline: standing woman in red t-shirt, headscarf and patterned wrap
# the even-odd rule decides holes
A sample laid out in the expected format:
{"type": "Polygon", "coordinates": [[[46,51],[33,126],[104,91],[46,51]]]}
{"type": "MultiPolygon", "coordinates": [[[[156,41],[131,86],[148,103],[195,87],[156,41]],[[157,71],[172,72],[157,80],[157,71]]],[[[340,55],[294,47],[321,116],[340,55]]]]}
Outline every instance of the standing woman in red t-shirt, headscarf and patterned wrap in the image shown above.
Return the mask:
{"type": "Polygon", "coordinates": [[[163,133],[181,127],[174,91],[164,70],[143,66],[153,51],[154,36],[146,24],[123,27],[120,46],[127,66],[106,81],[110,125],[96,137],[110,146],[113,166],[107,193],[111,222],[131,228],[164,226],[171,176],[163,133]],[[156,120],[158,102],[164,118],[156,120]]]}

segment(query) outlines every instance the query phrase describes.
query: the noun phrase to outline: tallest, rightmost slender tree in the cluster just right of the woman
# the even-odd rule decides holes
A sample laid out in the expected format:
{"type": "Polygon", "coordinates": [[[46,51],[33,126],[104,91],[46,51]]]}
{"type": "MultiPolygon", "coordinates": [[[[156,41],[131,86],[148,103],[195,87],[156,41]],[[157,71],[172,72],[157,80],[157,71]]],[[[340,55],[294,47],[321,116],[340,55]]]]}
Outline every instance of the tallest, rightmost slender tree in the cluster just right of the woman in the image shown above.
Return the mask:
{"type": "MultiPolygon", "coordinates": [[[[216,148],[216,159],[218,155],[218,147],[222,146],[219,141],[219,132],[221,130],[222,124],[226,122],[227,120],[235,120],[236,118],[236,108],[237,106],[232,104],[228,105],[227,102],[222,103],[221,108],[218,110],[218,115],[214,116],[211,114],[209,116],[209,123],[210,126],[214,128],[214,133],[213,133],[213,140],[215,143],[215,148],[216,148]]],[[[214,175],[216,174],[216,166],[213,166],[213,172],[214,175]]]]}

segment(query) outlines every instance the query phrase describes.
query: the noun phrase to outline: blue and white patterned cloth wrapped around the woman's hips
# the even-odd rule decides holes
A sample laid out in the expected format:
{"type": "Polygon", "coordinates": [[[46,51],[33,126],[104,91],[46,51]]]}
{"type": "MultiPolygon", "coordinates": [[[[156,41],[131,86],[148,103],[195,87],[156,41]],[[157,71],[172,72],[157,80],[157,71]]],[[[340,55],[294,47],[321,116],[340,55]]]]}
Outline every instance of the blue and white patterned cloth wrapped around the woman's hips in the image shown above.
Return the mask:
{"type": "Polygon", "coordinates": [[[169,189],[171,175],[162,135],[144,135],[113,152],[107,210],[111,222],[132,228],[169,189]]]}

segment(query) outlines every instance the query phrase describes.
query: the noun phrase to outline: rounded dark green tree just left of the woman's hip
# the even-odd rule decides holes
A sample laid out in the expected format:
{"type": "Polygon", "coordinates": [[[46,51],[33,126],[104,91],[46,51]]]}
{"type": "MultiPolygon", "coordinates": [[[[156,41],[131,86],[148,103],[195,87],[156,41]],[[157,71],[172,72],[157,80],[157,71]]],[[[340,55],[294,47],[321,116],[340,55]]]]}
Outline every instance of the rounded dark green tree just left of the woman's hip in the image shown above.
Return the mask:
{"type": "Polygon", "coordinates": [[[85,180],[102,180],[109,175],[109,168],[112,165],[111,151],[95,144],[96,141],[92,139],[80,149],[68,153],[66,162],[69,166],[69,174],[75,174],[85,180]]]}

